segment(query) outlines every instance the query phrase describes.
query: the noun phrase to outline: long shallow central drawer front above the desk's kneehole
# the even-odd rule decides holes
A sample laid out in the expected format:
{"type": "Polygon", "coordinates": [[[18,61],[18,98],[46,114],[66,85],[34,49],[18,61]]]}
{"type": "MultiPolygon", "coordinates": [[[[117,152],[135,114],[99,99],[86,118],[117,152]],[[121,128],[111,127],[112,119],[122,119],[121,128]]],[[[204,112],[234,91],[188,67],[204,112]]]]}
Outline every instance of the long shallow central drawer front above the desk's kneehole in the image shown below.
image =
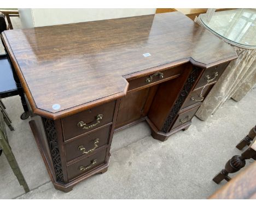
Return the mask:
{"type": "Polygon", "coordinates": [[[155,72],[154,74],[150,74],[147,76],[139,77],[136,79],[131,79],[129,81],[129,90],[137,89],[137,88],[143,88],[147,87],[149,85],[152,85],[153,83],[160,83],[163,81],[166,81],[168,79],[171,79],[171,77],[177,77],[180,74],[182,74],[184,70],[184,66],[176,66],[170,69],[162,70],[155,72]]]}

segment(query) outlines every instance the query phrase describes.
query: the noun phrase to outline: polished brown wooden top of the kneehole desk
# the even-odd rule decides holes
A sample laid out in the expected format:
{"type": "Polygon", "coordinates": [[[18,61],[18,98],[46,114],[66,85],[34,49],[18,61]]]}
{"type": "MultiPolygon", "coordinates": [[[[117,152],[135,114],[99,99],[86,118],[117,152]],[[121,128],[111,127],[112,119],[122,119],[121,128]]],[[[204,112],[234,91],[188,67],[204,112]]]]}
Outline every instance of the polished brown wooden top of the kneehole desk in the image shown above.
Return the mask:
{"type": "Polygon", "coordinates": [[[2,38],[33,112],[53,119],[124,96],[127,77],[237,57],[178,12],[7,30],[2,38]]]}

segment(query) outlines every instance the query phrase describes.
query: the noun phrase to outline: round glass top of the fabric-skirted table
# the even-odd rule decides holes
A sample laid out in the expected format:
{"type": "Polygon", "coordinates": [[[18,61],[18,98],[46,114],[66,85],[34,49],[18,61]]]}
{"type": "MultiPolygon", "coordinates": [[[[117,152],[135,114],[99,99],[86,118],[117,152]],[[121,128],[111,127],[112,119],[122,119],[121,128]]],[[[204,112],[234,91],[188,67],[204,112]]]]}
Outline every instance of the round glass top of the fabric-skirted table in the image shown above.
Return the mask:
{"type": "Polygon", "coordinates": [[[213,32],[235,44],[256,46],[256,9],[234,9],[215,12],[211,19],[200,15],[202,23],[213,32]]]}

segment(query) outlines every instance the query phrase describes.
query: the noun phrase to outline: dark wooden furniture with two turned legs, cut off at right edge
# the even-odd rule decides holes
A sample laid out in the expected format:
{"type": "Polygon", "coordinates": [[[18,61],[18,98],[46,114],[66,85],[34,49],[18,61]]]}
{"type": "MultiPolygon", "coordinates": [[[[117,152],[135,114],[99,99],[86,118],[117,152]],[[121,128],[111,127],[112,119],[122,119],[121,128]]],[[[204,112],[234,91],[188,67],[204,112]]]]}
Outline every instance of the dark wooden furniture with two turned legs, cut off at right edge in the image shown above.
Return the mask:
{"type": "Polygon", "coordinates": [[[245,167],[246,160],[250,158],[256,160],[256,126],[253,127],[249,134],[236,145],[236,148],[241,150],[246,145],[249,145],[249,147],[241,155],[233,156],[226,163],[225,168],[214,176],[214,182],[218,184],[224,179],[230,181],[231,178],[228,176],[229,173],[236,173],[238,170],[245,167]]]}

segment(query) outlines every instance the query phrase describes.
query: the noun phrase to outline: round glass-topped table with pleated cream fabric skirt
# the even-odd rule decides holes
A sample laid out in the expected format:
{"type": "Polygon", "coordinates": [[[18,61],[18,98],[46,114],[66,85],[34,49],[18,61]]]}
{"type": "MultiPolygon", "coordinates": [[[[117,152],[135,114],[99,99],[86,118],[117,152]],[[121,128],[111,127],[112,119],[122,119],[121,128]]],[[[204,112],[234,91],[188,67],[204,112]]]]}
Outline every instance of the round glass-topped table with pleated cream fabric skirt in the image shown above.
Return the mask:
{"type": "Polygon", "coordinates": [[[256,84],[256,9],[200,14],[195,22],[231,45],[238,56],[230,62],[196,112],[197,118],[206,120],[227,99],[240,101],[256,84]]]}

